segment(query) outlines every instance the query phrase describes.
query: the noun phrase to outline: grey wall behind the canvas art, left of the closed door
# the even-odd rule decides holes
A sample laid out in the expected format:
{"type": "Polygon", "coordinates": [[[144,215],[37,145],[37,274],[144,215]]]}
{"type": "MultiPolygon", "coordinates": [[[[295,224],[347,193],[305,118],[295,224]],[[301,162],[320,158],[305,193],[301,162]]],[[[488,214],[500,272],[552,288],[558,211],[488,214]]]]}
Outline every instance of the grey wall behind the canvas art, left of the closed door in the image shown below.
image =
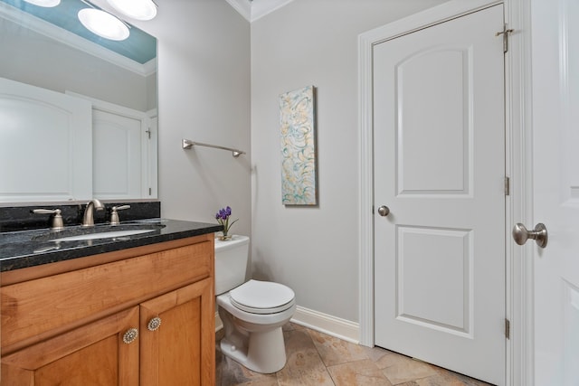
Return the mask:
{"type": "Polygon", "coordinates": [[[295,0],[252,24],[252,260],[299,306],[358,320],[357,36],[443,0],[295,0]],[[318,90],[319,205],[284,207],[281,93],[318,90]]]}

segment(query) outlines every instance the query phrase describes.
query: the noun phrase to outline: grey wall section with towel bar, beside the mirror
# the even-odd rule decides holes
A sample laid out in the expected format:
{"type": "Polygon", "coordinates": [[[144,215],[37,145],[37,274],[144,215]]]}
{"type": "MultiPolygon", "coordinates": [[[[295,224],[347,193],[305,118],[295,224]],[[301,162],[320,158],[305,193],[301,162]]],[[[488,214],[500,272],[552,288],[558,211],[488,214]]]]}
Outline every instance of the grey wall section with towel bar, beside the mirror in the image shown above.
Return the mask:
{"type": "Polygon", "coordinates": [[[225,0],[171,0],[138,24],[158,39],[159,198],[166,218],[215,222],[223,206],[250,235],[250,25],[225,0]],[[199,147],[181,139],[248,152],[199,147]]]}

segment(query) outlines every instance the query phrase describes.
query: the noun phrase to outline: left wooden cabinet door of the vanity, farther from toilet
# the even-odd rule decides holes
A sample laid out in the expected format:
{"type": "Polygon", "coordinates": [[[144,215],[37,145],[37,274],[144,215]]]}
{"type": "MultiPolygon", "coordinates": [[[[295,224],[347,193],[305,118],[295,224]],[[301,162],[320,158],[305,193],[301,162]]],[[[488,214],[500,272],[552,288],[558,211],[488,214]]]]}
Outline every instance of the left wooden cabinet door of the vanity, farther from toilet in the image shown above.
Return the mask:
{"type": "Polygon", "coordinates": [[[6,355],[0,384],[138,386],[139,339],[123,342],[131,328],[138,306],[6,355]]]}

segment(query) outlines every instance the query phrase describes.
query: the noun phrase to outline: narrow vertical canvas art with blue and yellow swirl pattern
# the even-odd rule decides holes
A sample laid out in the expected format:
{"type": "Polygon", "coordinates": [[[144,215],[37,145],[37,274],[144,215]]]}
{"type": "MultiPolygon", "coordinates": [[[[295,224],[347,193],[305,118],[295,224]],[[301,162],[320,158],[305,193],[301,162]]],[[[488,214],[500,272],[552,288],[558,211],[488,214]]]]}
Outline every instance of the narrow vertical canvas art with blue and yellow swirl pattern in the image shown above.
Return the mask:
{"type": "Polygon", "coordinates": [[[314,87],[280,95],[281,202],[316,205],[314,87]]]}

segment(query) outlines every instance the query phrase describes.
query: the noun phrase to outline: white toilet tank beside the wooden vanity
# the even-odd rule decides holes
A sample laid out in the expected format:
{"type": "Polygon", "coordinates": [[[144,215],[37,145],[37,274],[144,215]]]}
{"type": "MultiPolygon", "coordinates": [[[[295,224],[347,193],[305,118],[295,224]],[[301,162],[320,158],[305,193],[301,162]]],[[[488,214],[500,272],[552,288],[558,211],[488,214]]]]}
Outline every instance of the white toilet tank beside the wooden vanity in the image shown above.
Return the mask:
{"type": "Polygon", "coordinates": [[[215,239],[215,295],[221,295],[245,281],[250,238],[234,235],[231,240],[215,239]]]}

